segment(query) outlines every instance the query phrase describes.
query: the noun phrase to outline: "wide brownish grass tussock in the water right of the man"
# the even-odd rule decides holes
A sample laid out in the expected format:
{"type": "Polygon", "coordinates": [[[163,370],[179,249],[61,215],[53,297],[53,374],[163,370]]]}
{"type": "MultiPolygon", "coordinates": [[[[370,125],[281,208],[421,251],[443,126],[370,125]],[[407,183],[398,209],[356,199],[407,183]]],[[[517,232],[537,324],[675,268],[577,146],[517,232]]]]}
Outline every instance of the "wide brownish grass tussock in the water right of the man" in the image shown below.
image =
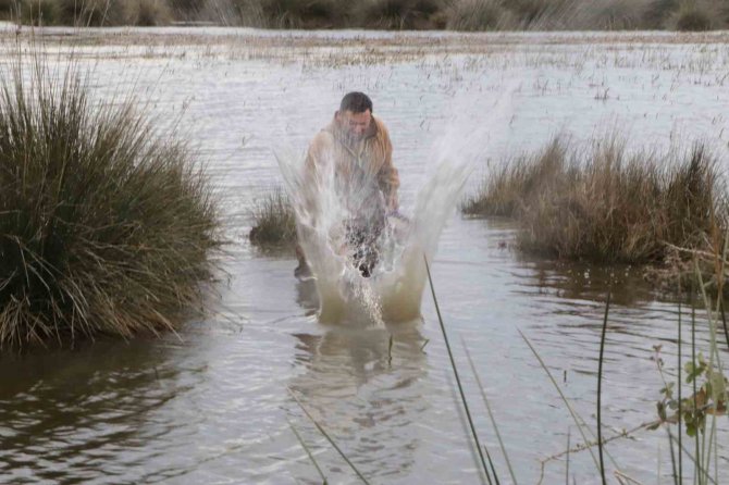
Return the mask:
{"type": "Polygon", "coordinates": [[[591,149],[556,138],[505,163],[461,210],[519,220],[521,248],[603,262],[665,262],[727,227],[718,163],[701,145],[675,157],[629,153],[613,137],[591,149]]]}

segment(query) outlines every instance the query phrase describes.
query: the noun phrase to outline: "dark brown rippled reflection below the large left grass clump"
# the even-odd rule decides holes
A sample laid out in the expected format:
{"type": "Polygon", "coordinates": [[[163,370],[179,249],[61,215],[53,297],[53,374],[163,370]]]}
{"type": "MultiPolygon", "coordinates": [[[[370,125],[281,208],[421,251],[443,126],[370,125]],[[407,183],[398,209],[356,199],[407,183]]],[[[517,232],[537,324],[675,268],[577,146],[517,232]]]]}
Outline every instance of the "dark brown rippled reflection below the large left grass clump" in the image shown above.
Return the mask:
{"type": "Polygon", "coordinates": [[[168,365],[164,346],[97,341],[0,359],[2,483],[150,482],[150,445],[180,439],[157,411],[190,390],[203,369],[168,365]],[[150,423],[153,422],[153,425],[150,423]]]}

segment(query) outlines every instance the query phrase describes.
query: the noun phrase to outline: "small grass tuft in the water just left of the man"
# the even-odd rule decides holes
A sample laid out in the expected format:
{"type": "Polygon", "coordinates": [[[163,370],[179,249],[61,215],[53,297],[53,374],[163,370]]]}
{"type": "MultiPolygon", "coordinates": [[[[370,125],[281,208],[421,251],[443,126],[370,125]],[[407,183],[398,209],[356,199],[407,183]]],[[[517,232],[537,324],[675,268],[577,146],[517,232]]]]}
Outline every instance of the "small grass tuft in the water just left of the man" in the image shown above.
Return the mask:
{"type": "Polygon", "coordinates": [[[257,246],[284,246],[296,242],[294,206],[280,188],[254,207],[254,227],[248,237],[257,246]]]}

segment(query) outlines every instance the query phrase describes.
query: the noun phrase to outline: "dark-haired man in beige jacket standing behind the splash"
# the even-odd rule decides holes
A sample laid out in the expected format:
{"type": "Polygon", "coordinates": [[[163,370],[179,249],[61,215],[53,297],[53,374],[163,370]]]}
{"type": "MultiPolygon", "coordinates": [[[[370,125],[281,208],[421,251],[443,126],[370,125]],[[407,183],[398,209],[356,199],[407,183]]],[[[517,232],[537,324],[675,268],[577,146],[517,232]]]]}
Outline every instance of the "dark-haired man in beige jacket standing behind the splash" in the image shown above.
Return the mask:
{"type": "MultiPolygon", "coordinates": [[[[356,249],[353,258],[363,276],[369,276],[376,263],[371,248],[384,227],[385,214],[398,208],[399,177],[393,165],[393,145],[384,123],[372,111],[367,95],[347,94],[334,120],[314,136],[305,162],[307,189],[316,186],[335,190],[353,214],[345,222],[347,242],[356,249]],[[322,187],[328,174],[333,175],[333,187],[322,187]]],[[[312,200],[312,211],[318,210],[316,206],[312,200]]],[[[304,276],[309,269],[300,246],[296,253],[299,266],[295,274],[304,276]]]]}

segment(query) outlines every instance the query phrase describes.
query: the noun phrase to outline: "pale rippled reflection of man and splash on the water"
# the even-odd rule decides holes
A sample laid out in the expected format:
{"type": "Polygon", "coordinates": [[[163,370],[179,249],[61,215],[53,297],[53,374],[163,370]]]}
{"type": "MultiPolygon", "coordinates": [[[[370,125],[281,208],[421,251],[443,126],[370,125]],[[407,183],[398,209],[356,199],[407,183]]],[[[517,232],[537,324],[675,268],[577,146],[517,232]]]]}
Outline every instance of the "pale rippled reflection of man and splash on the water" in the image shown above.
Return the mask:
{"type": "MultiPolygon", "coordinates": [[[[316,313],[312,282],[299,282],[297,290],[307,314],[316,313]]],[[[366,476],[395,480],[407,475],[415,463],[416,424],[429,407],[419,325],[415,321],[383,328],[343,322],[317,327],[321,334],[295,335],[296,365],[305,372],[292,378],[289,388],[366,476]]],[[[329,447],[296,403],[288,409],[295,425],[305,430],[307,443],[329,447]]],[[[321,459],[346,469],[333,453],[321,459]]]]}

